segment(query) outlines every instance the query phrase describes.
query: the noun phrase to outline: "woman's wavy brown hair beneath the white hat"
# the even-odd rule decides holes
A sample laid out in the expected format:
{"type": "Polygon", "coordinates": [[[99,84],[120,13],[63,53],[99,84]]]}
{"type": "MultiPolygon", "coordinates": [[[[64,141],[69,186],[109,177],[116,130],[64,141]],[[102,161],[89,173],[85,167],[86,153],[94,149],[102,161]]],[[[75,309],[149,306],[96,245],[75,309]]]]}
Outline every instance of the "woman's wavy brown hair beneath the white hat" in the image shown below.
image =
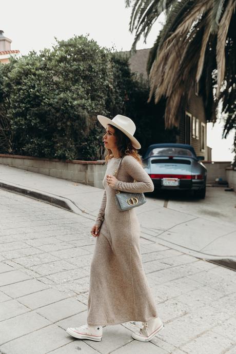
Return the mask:
{"type": "MultiPolygon", "coordinates": [[[[126,156],[126,155],[131,155],[131,156],[133,156],[134,159],[139,161],[141,166],[143,166],[142,158],[141,158],[140,154],[137,152],[137,149],[135,149],[132,146],[132,143],[131,143],[131,140],[129,139],[129,137],[127,135],[125,135],[123,133],[123,131],[121,131],[120,129],[114,127],[111,124],[108,124],[108,125],[114,129],[114,135],[116,137],[116,145],[117,145],[117,149],[119,150],[119,155],[121,157],[126,156]]],[[[111,149],[106,148],[106,155],[105,155],[106,163],[108,162],[108,160],[112,159],[113,157],[114,156],[112,154],[111,149]]]]}

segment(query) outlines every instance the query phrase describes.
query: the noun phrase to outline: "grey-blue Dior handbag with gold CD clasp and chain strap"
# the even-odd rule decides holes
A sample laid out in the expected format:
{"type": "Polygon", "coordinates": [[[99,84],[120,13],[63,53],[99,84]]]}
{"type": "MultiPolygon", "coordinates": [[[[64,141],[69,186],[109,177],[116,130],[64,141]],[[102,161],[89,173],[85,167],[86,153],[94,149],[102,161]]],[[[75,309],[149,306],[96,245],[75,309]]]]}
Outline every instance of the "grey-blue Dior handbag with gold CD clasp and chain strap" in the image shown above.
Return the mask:
{"type": "MultiPolygon", "coordinates": [[[[116,169],[113,172],[113,176],[116,176],[122,159],[119,162],[118,167],[116,167],[116,169]]],[[[133,182],[137,182],[136,180],[134,180],[133,182]]],[[[140,206],[144,203],[146,203],[146,198],[144,193],[130,193],[130,192],[122,192],[118,189],[115,190],[115,203],[118,207],[119,210],[121,211],[125,211],[125,210],[129,210],[131,208],[135,208],[137,206],[140,206]]]]}

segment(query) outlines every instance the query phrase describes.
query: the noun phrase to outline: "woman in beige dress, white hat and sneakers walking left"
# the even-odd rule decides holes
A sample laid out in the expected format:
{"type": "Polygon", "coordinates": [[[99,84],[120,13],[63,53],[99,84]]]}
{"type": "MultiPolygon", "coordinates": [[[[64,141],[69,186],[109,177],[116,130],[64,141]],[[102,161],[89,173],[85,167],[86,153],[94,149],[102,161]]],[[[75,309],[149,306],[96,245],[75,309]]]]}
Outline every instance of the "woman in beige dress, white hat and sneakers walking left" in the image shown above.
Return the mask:
{"type": "Polygon", "coordinates": [[[67,333],[78,339],[101,341],[103,326],[141,321],[143,327],[132,337],[146,342],[163,329],[163,323],[142,265],[141,230],[135,208],[121,211],[115,203],[115,191],[151,192],[154,186],[137,153],[141,145],[133,136],[133,121],[120,114],[112,120],[102,115],[97,119],[106,129],[103,141],[107,170],[102,204],[91,229],[96,243],[90,268],[87,324],[67,328],[67,333]]]}

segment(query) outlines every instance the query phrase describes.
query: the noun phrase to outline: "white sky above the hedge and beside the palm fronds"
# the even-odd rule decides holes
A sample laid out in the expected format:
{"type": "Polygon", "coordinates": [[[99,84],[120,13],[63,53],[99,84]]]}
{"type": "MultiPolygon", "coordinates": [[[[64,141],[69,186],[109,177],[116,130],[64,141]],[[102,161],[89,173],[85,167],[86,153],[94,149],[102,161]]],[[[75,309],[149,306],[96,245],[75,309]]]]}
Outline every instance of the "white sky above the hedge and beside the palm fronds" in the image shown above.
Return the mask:
{"type": "MultiPolygon", "coordinates": [[[[125,0],[7,0],[1,4],[0,29],[11,38],[11,49],[22,54],[51,47],[58,40],[90,34],[102,47],[130,50],[134,35],[128,30],[130,9],[125,0]]],[[[147,44],[141,38],[137,49],[152,47],[159,25],[155,24],[147,44]]],[[[222,140],[222,124],[207,125],[207,145],[213,161],[232,161],[234,133],[222,140]]]]}

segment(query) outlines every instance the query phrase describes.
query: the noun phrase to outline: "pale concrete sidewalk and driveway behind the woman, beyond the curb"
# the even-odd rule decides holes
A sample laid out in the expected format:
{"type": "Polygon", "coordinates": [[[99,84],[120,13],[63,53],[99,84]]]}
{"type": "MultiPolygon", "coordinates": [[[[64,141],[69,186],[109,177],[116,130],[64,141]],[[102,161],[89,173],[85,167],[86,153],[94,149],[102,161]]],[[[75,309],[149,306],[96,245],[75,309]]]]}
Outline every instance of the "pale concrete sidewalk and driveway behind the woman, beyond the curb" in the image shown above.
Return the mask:
{"type": "MultiPolygon", "coordinates": [[[[0,165],[0,187],[61,206],[95,220],[103,189],[0,165]]],[[[156,197],[136,209],[143,235],[202,259],[236,261],[236,196],[207,188],[205,200],[156,197]]]]}

